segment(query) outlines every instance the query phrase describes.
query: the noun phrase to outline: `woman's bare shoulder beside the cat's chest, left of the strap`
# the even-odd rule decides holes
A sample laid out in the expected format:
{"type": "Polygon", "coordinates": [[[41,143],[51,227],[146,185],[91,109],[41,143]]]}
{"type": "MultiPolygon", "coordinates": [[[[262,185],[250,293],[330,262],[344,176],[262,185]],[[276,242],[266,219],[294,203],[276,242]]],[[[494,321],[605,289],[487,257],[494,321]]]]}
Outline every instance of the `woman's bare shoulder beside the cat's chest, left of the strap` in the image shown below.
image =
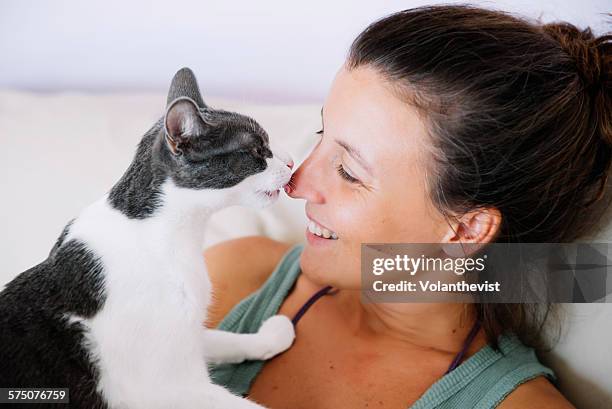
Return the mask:
{"type": "Polygon", "coordinates": [[[214,296],[206,326],[216,327],[234,305],[261,287],[290,247],[264,236],[249,236],[207,248],[204,260],[214,296]]]}

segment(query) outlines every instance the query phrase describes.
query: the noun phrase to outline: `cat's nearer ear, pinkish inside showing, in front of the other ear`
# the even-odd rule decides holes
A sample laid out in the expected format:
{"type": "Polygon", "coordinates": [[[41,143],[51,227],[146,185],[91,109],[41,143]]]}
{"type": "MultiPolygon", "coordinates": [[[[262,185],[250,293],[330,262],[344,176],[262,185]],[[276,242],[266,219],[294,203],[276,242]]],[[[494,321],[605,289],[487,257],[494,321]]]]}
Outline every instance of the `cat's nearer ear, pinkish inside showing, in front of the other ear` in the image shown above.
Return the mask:
{"type": "Polygon", "coordinates": [[[194,137],[204,133],[205,127],[206,123],[193,99],[180,97],[168,105],[164,117],[164,133],[173,154],[183,153],[194,137]]]}

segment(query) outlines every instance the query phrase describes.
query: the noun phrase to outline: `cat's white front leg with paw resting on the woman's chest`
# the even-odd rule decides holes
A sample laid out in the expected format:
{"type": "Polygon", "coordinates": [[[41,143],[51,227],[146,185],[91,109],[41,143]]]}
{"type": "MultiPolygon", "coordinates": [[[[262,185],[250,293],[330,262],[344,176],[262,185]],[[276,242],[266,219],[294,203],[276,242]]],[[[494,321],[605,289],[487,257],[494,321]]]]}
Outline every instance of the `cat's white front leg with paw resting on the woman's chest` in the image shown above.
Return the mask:
{"type": "Polygon", "coordinates": [[[254,334],[236,334],[217,329],[204,331],[204,355],[211,363],[266,360],[291,346],[295,329],[284,315],[268,318],[254,334]]]}

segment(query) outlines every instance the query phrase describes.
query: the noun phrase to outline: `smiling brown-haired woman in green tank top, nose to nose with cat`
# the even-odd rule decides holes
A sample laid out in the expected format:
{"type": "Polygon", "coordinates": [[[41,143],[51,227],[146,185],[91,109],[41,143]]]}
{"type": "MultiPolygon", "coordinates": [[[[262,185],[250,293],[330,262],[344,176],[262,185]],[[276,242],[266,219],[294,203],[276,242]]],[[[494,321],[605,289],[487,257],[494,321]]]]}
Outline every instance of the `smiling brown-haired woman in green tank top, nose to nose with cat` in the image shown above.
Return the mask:
{"type": "Polygon", "coordinates": [[[208,325],[299,320],[288,351],[215,367],[216,382],[271,408],[572,407],[531,348],[527,305],[361,303],[360,244],[587,231],[611,161],[610,39],[471,6],[411,9],[361,33],[286,189],[306,201],[307,243],[206,253],[219,297],[208,325]]]}

